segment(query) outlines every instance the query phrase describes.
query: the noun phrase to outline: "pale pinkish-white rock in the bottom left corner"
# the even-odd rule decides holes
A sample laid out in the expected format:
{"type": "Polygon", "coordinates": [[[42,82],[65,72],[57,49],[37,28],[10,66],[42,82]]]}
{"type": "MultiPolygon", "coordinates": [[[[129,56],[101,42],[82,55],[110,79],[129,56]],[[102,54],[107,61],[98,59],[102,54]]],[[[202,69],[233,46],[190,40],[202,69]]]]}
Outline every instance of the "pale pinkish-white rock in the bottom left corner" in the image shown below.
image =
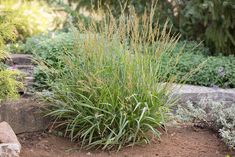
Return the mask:
{"type": "Polygon", "coordinates": [[[0,157],[19,157],[21,145],[6,122],[0,123],[0,157]]]}

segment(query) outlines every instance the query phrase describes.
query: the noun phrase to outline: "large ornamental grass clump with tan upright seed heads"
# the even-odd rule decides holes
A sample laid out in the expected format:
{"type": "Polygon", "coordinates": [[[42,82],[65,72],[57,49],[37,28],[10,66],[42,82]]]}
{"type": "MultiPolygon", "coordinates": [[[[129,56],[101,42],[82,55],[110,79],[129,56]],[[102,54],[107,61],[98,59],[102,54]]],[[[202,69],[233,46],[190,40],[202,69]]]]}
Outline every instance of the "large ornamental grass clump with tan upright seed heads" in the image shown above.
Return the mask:
{"type": "Polygon", "coordinates": [[[171,68],[162,72],[161,58],[172,65],[180,57],[170,57],[178,36],[153,20],[153,11],[138,17],[131,9],[88,28],[79,24],[74,50],[60,56],[63,68],[50,69],[57,74],[47,98],[54,128],[82,147],[108,150],[160,137],[175,81],[171,68]]]}

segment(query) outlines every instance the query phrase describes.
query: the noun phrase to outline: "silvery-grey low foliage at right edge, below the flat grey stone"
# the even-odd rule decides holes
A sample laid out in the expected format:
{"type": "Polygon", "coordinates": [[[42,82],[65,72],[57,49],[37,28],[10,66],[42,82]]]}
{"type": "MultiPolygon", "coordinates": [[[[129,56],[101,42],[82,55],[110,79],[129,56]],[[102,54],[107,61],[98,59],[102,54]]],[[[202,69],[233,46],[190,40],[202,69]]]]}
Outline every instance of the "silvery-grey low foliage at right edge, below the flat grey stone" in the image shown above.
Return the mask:
{"type": "Polygon", "coordinates": [[[177,117],[192,121],[196,126],[205,126],[218,131],[228,147],[235,149],[235,104],[225,107],[223,103],[201,101],[197,107],[188,102],[186,107],[179,106],[177,117]]]}

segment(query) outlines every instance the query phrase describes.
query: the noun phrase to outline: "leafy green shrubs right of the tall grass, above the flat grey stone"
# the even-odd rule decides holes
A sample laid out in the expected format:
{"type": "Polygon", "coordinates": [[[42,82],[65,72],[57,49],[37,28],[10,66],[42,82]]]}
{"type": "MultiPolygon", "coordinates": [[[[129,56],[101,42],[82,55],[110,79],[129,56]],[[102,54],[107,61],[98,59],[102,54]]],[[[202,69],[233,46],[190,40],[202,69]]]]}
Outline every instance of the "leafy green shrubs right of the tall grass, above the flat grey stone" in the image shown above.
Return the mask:
{"type": "MultiPolygon", "coordinates": [[[[206,48],[190,42],[179,43],[174,49],[175,56],[177,56],[183,44],[185,44],[184,53],[181,54],[180,61],[172,70],[173,74],[177,75],[177,80],[181,80],[192,69],[205,62],[199,71],[186,80],[186,84],[235,88],[234,56],[213,56],[208,58],[206,48]]],[[[168,58],[164,59],[166,65],[167,60],[168,58]]]]}

